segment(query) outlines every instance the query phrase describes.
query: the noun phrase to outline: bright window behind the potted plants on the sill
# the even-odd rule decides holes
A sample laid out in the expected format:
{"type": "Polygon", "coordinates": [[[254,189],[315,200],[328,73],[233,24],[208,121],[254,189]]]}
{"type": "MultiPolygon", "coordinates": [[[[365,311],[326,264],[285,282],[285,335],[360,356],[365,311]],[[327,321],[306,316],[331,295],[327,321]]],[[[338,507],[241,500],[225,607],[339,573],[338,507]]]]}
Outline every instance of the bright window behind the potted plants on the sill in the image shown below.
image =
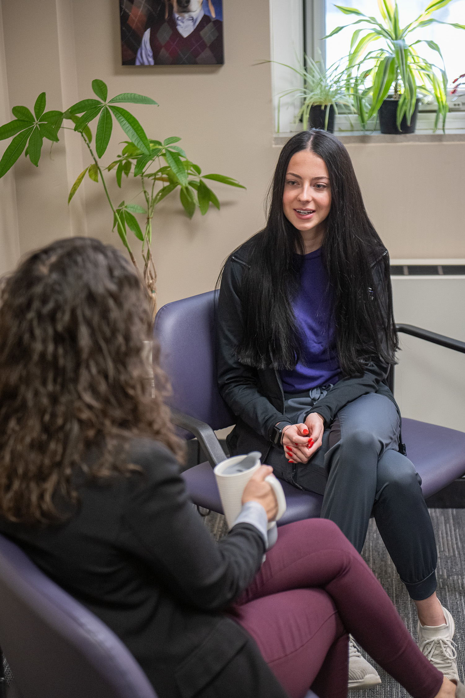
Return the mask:
{"type": "MultiPolygon", "coordinates": [[[[363,28],[365,25],[358,24],[356,27],[348,27],[343,29],[340,34],[323,41],[322,37],[330,34],[336,27],[344,26],[357,19],[355,15],[344,15],[335,7],[335,2],[337,0],[270,0],[271,59],[296,67],[299,61],[303,61],[305,52],[317,61],[319,61],[321,54],[323,61],[326,61],[326,66],[330,66],[346,56],[349,52],[353,31],[363,28]]],[[[376,0],[340,0],[340,4],[357,8],[369,16],[381,16],[376,0]]],[[[427,4],[428,0],[398,0],[402,24],[408,24],[418,17],[427,4]]],[[[465,0],[452,0],[447,6],[434,13],[433,17],[441,22],[465,24],[465,0]]],[[[412,41],[417,38],[433,40],[441,47],[449,84],[452,84],[452,80],[456,77],[465,73],[464,29],[455,29],[445,24],[434,23],[418,30],[417,36],[411,34],[412,41]]],[[[379,44],[381,45],[381,41],[379,44]]],[[[373,43],[372,46],[376,47],[376,43],[373,43]]],[[[425,59],[441,66],[439,55],[426,44],[420,44],[418,50],[425,59]]],[[[275,131],[278,131],[278,96],[286,89],[298,87],[300,77],[289,68],[277,64],[272,64],[271,75],[275,131]]],[[[451,101],[451,97],[449,98],[451,112],[465,111],[465,90],[460,90],[457,97],[454,102],[451,101]]],[[[298,130],[299,126],[294,124],[294,118],[299,108],[300,102],[294,95],[281,99],[280,133],[298,130]]],[[[427,109],[426,105],[425,110],[427,109]]],[[[453,119],[455,117],[462,119],[460,114],[455,114],[453,119]]],[[[347,119],[349,117],[346,117],[347,119]]],[[[455,123],[453,119],[448,117],[448,128],[459,128],[463,131],[464,124],[462,122],[459,124],[458,121],[455,123]]],[[[426,120],[422,128],[431,129],[434,117],[431,117],[429,121],[426,120]]],[[[347,121],[346,126],[341,123],[340,128],[344,131],[346,128],[356,128],[356,125],[357,120],[352,119],[351,124],[349,121],[347,121]]]]}

